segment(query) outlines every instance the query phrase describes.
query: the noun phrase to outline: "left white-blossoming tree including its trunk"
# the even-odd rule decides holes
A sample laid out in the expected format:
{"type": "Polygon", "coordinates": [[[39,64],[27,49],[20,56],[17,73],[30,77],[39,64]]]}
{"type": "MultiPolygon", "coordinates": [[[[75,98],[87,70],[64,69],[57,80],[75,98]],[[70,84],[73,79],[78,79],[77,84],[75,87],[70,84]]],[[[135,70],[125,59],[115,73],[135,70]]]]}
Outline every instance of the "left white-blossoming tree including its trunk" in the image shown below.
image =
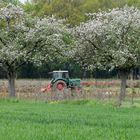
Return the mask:
{"type": "Polygon", "coordinates": [[[70,44],[62,21],[30,18],[12,4],[0,9],[0,65],[7,73],[9,95],[15,96],[16,72],[27,61],[40,64],[61,58],[70,44]]]}

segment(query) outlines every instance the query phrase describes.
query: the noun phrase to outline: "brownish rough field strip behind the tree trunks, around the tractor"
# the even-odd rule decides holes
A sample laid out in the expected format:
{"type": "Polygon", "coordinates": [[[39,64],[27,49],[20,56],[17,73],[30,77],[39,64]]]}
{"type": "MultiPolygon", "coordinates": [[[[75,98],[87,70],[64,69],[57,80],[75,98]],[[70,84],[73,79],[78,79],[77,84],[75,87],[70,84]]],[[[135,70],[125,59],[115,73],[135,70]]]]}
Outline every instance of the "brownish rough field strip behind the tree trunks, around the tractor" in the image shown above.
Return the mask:
{"type": "MultiPolygon", "coordinates": [[[[82,80],[81,92],[67,90],[65,93],[41,92],[42,87],[46,87],[49,80],[16,80],[16,96],[18,99],[34,99],[44,101],[73,100],[73,99],[93,99],[110,100],[117,98],[120,90],[119,80],[82,80]]],[[[0,80],[0,97],[8,95],[7,81],[0,80]]],[[[128,80],[126,97],[130,102],[140,97],[140,81],[128,80]]]]}

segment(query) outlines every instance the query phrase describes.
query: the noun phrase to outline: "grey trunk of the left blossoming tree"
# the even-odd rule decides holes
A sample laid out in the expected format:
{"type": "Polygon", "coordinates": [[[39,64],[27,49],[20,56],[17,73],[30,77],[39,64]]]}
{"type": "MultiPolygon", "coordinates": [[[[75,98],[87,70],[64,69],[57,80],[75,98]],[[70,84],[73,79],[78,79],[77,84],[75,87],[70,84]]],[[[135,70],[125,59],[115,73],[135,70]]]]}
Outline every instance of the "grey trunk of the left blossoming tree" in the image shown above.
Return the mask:
{"type": "Polygon", "coordinates": [[[8,74],[8,92],[10,97],[14,97],[15,93],[15,73],[8,74]]]}

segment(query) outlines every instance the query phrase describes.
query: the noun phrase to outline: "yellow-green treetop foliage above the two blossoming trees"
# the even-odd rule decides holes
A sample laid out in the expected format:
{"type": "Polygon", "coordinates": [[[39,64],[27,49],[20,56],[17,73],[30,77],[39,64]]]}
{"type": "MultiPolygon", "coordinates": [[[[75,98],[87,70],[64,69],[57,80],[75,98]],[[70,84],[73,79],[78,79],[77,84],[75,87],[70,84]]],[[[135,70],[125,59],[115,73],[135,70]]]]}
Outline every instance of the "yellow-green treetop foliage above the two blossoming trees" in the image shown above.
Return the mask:
{"type": "Polygon", "coordinates": [[[125,4],[140,7],[139,0],[32,0],[26,3],[24,8],[37,15],[52,16],[66,19],[71,26],[78,25],[86,20],[86,13],[108,10],[115,7],[123,7],[125,4]]]}

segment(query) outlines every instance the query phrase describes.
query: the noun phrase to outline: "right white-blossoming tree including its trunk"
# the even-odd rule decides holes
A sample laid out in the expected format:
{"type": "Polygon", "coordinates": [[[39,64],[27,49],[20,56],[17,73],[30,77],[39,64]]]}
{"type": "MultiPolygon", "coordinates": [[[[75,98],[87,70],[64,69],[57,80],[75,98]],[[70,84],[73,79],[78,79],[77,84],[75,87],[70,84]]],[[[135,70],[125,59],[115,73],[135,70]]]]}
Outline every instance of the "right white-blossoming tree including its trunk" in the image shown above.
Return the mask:
{"type": "Polygon", "coordinates": [[[89,17],[86,23],[75,28],[77,58],[89,69],[118,69],[121,104],[127,76],[140,62],[140,10],[125,6],[89,14],[89,17]]]}

